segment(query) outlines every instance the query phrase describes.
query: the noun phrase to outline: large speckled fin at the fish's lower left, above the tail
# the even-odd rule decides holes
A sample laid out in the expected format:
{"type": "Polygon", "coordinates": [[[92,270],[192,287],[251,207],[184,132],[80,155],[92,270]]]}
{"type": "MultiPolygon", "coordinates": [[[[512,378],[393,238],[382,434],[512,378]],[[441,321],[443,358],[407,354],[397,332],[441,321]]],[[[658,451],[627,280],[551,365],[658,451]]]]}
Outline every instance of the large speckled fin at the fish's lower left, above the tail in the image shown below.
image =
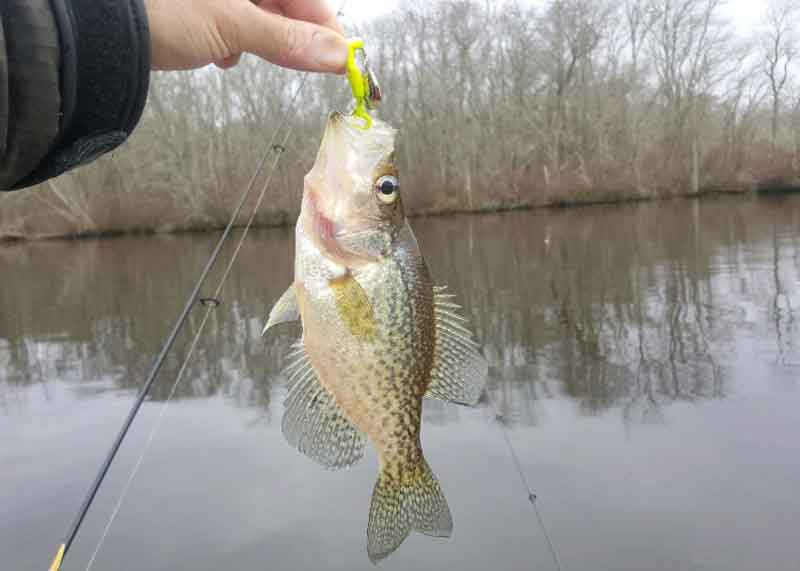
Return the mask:
{"type": "Polygon", "coordinates": [[[366,437],[336,404],[299,341],[285,373],[289,378],[281,428],[286,440],[326,468],[352,466],[364,456],[366,437]]]}

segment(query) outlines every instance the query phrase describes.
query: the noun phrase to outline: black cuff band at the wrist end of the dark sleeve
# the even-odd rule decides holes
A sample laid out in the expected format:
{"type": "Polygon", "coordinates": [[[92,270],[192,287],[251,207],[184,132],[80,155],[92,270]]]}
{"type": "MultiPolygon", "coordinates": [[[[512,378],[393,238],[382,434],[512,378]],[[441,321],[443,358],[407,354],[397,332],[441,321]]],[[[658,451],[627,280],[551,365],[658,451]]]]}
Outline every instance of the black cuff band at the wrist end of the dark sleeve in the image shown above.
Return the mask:
{"type": "Polygon", "coordinates": [[[88,163],[123,143],[144,110],[150,35],[144,0],[50,0],[61,44],[59,135],[15,188],[88,163]]]}

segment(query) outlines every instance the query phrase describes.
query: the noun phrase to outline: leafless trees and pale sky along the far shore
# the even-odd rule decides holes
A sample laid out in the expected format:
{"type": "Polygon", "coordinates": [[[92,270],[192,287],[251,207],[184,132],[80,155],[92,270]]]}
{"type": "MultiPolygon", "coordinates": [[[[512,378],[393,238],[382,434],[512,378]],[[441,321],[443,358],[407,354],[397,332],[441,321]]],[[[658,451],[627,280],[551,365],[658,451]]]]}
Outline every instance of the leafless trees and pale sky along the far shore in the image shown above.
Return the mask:
{"type": "MultiPolygon", "coordinates": [[[[404,2],[360,30],[400,128],[412,213],[747,191],[793,184],[800,11],[773,1],[750,37],[724,0],[404,2]]],[[[245,58],[154,74],[112,156],[0,198],[0,235],[219,227],[272,133],[292,134],[259,224],[291,222],[346,81],[245,58]],[[291,108],[290,108],[291,107],[291,108]]],[[[282,136],[282,135],[281,135],[282,136]]]]}

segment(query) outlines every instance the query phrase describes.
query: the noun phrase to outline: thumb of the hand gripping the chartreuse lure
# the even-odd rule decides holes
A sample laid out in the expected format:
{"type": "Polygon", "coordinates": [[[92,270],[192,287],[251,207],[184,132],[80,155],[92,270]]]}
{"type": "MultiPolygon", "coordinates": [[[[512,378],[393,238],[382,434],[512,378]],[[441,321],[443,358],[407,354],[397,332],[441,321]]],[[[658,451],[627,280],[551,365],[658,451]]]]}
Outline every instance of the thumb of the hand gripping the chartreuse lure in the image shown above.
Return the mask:
{"type": "Polygon", "coordinates": [[[239,47],[274,64],[303,71],[344,73],[347,40],[329,28],[242,3],[239,47]]]}

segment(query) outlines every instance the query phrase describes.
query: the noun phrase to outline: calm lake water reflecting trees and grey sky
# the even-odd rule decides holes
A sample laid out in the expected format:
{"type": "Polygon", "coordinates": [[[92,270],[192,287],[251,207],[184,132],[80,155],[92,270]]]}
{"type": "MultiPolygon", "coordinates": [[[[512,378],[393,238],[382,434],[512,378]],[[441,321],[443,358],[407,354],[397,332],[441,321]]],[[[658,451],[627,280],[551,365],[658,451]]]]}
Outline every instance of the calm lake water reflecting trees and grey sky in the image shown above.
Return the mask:
{"type": "MultiPolygon", "coordinates": [[[[491,379],[477,409],[424,410],[453,537],[412,534],[380,568],[555,569],[505,431],[564,569],[800,569],[800,197],[412,223],[491,379]]],[[[0,569],[49,564],[215,239],[0,246],[0,569]]],[[[374,453],[326,471],[280,433],[299,328],[260,331],[292,256],[290,230],[248,238],[93,569],[373,568],[374,453]]],[[[201,315],[65,570],[86,569],[201,315]]]]}

